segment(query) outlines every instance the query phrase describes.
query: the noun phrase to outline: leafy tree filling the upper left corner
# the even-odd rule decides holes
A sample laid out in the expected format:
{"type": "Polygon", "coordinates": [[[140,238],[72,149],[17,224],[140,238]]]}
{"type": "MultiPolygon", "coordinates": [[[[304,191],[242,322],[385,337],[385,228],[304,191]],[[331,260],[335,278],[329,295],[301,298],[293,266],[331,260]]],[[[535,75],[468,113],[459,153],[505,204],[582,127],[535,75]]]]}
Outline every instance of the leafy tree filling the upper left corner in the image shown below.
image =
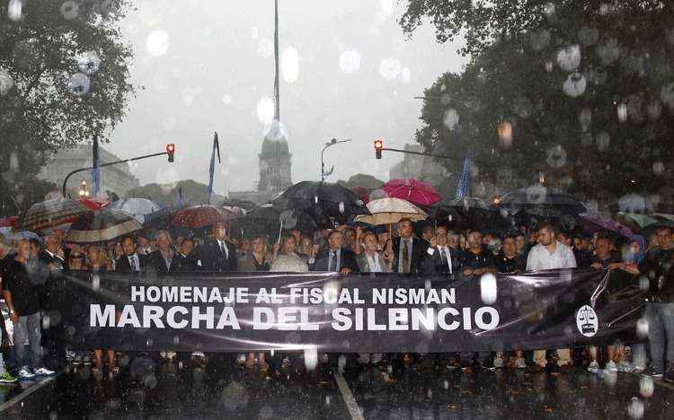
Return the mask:
{"type": "Polygon", "coordinates": [[[0,6],[0,206],[13,208],[12,197],[23,197],[17,201],[25,210],[31,201],[20,192],[36,182],[47,154],[93,136],[109,141],[124,117],[135,92],[133,54],[118,22],[129,4],[2,0],[0,6]]]}

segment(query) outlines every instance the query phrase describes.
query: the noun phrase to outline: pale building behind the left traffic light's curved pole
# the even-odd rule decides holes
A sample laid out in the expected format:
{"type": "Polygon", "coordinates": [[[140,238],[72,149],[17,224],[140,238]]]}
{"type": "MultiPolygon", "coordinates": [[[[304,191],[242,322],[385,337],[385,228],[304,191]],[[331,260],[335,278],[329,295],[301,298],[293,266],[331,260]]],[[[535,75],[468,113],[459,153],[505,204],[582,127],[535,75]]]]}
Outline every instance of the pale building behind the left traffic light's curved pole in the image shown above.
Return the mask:
{"type": "MultiPolygon", "coordinates": [[[[101,163],[120,161],[120,157],[99,147],[101,163]]],[[[71,171],[92,166],[92,145],[77,144],[73,147],[59,150],[58,153],[49,157],[49,160],[40,170],[40,179],[49,180],[57,185],[60,192],[63,180],[71,171]]],[[[67,193],[71,197],[78,197],[80,183],[86,180],[87,189],[93,194],[92,172],[83,171],[76,173],[68,179],[67,193]]],[[[129,163],[120,163],[101,168],[100,190],[102,194],[111,191],[119,197],[127,195],[129,190],[140,186],[138,179],[133,176],[129,169],[129,163]]]]}

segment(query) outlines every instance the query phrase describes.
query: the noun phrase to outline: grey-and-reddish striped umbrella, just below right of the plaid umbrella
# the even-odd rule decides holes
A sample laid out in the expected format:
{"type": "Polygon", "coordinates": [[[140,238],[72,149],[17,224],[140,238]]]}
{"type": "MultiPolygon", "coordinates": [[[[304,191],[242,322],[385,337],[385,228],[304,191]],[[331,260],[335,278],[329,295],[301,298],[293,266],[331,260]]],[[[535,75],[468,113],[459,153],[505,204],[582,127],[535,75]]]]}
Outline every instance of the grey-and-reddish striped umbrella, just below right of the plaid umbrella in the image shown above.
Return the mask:
{"type": "Polygon", "coordinates": [[[143,229],[131,214],[120,210],[102,209],[82,214],[70,225],[66,241],[92,243],[111,241],[143,229]]]}

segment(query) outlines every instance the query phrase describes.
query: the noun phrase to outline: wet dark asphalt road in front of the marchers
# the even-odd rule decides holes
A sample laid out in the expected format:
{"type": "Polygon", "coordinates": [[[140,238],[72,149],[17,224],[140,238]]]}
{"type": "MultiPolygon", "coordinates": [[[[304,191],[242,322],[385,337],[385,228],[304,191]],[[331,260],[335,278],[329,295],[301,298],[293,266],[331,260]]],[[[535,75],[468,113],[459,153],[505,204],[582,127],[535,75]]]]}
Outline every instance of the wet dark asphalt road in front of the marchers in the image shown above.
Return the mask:
{"type": "Polygon", "coordinates": [[[0,418],[674,418],[673,384],[581,368],[554,375],[412,365],[390,377],[371,366],[271,378],[241,368],[206,372],[147,359],[129,361],[115,380],[72,368],[0,387],[0,418]]]}

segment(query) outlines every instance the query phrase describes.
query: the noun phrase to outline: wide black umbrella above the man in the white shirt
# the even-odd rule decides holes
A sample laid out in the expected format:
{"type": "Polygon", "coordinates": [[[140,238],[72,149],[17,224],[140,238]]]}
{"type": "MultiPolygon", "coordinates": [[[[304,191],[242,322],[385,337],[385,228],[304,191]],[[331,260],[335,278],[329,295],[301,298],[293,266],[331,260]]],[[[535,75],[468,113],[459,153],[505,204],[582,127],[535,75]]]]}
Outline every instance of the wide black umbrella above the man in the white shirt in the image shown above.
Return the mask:
{"type": "Polygon", "coordinates": [[[499,207],[513,213],[525,210],[528,214],[543,217],[561,217],[563,214],[587,212],[587,208],[577,199],[544,186],[516,189],[501,197],[499,207]]]}

